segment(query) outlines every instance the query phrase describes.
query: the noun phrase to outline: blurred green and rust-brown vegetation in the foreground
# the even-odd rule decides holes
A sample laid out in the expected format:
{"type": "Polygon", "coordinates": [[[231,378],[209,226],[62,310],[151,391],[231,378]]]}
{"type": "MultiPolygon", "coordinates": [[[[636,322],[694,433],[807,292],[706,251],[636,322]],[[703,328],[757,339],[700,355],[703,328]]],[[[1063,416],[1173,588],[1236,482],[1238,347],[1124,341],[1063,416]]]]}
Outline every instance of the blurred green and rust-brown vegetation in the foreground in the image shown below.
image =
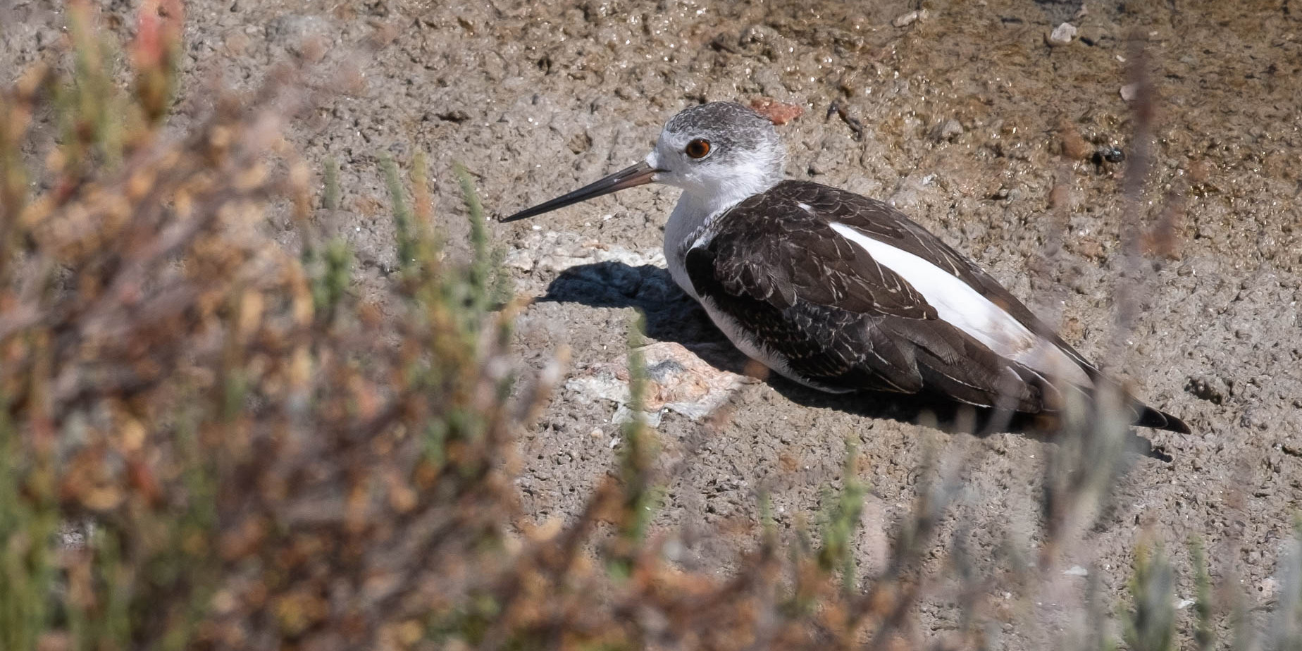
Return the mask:
{"type": "MultiPolygon", "coordinates": [[[[533,525],[514,436],[564,355],[512,375],[521,303],[469,174],[456,172],[471,255],[452,263],[424,158],[406,174],[381,161],[400,251],[384,314],[349,292],[352,254],[315,224],[316,206],[339,207],[337,163],[315,197],[281,137],[302,108],[285,76],[164,138],[180,0],[142,3],[126,85],[90,5],[70,1],[68,20],[66,61],[0,95],[0,650],[918,644],[915,609],[936,590],[919,566],[952,478],[921,491],[887,568],[858,575],[868,487],[852,447],[816,533],[784,543],[762,518],[720,578],[667,561],[648,533],[663,478],[654,432],[631,422],[582,513],[533,525]],[[47,148],[38,122],[57,129],[47,148]],[[270,237],[277,210],[299,251],[270,237]]],[[[639,346],[634,326],[633,413],[639,346]]],[[[1049,465],[1046,510],[1061,525],[1047,549],[1116,477],[1116,439],[1081,436],[1095,443],[1068,441],[1075,461],[1049,465]]],[[[1212,648],[1219,625],[1242,620],[1212,603],[1200,547],[1194,559],[1185,634],[1212,648]]],[[[1059,574],[1052,555],[1026,566],[1027,595],[1059,574]]],[[[1279,648],[1298,648],[1298,575],[1281,586],[1279,648]]],[[[1139,553],[1133,603],[1118,604],[1125,644],[1173,648],[1174,585],[1160,551],[1139,553]]],[[[937,648],[999,646],[983,590],[965,585],[962,626],[937,648]]]]}

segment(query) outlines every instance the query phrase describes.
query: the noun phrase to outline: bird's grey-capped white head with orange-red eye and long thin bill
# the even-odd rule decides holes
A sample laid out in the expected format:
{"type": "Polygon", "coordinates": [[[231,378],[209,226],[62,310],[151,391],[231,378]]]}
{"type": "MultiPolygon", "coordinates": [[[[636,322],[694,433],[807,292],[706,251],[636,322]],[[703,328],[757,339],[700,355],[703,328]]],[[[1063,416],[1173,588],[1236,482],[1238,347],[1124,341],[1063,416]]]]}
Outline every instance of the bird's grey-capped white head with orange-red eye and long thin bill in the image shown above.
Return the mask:
{"type": "Polygon", "coordinates": [[[777,185],[785,154],[767,117],[733,102],[700,104],[669,118],[644,161],[501,221],[650,182],[682,187],[703,207],[730,206],[777,185]]]}

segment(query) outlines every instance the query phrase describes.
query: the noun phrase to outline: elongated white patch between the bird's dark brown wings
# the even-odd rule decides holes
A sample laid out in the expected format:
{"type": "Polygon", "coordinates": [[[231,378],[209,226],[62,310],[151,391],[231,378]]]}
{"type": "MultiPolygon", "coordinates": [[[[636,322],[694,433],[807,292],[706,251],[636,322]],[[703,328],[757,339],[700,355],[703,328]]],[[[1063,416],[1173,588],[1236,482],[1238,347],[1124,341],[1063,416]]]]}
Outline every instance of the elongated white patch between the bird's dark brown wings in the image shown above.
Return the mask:
{"type": "Polygon", "coordinates": [[[913,285],[950,326],[993,350],[996,354],[1026,365],[1052,378],[1082,387],[1092,387],[1090,376],[1052,341],[1022,326],[957,276],[909,253],[879,242],[852,227],[831,223],[832,230],[859,245],[878,264],[888,267],[913,285]]]}

